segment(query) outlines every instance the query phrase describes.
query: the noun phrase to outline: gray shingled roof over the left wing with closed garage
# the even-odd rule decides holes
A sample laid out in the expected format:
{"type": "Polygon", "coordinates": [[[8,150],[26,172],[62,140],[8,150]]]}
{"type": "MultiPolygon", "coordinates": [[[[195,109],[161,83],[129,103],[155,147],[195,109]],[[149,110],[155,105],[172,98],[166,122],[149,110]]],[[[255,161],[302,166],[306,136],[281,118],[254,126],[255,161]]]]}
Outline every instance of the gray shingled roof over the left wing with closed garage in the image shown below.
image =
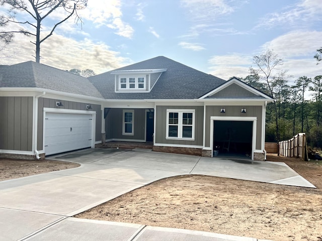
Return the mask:
{"type": "Polygon", "coordinates": [[[87,78],[33,61],[0,66],[0,87],[37,87],[103,98],[87,78]]]}

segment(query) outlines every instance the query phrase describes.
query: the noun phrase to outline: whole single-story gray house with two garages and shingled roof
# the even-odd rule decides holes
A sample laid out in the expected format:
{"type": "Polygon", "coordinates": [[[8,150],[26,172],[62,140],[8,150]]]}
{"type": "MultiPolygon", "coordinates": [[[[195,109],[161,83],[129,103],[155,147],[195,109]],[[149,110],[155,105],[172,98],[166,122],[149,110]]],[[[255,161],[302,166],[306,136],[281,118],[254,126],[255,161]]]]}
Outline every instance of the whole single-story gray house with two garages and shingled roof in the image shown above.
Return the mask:
{"type": "Polygon", "coordinates": [[[0,67],[0,157],[44,158],[110,141],[265,159],[272,98],[159,56],[85,78],[32,61],[0,67]]]}

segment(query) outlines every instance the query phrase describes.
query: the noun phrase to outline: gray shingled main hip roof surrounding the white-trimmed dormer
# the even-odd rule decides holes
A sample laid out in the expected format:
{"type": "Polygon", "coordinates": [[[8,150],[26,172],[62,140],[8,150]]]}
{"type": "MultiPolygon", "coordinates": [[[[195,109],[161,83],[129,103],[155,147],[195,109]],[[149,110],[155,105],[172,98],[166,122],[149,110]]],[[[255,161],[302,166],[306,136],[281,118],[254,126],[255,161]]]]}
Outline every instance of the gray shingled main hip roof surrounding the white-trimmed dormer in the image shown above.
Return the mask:
{"type": "Polygon", "coordinates": [[[119,70],[167,69],[150,92],[116,93],[112,71],[89,77],[105,99],[195,99],[210,92],[225,80],[203,73],[164,56],[158,56],[119,70]]]}

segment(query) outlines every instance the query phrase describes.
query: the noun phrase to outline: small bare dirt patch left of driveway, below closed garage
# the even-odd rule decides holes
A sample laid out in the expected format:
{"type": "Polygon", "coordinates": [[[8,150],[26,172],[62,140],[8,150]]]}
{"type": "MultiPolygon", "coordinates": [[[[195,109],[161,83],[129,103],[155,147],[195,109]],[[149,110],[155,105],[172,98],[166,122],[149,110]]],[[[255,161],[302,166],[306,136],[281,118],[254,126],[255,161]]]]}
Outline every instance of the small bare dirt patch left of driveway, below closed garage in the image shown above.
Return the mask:
{"type": "Polygon", "coordinates": [[[79,167],[77,163],[0,158],[0,181],[79,167]]]}

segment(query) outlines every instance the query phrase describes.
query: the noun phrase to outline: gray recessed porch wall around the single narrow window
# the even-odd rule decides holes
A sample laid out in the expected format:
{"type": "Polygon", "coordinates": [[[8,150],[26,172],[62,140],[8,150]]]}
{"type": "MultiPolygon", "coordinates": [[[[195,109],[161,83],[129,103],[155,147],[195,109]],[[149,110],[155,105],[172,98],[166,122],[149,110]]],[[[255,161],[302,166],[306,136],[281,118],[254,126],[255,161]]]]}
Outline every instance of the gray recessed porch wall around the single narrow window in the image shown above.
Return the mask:
{"type": "Polygon", "coordinates": [[[111,108],[105,119],[106,139],[142,140],[145,139],[145,109],[134,110],[134,135],[122,135],[123,108],[111,108]]]}

